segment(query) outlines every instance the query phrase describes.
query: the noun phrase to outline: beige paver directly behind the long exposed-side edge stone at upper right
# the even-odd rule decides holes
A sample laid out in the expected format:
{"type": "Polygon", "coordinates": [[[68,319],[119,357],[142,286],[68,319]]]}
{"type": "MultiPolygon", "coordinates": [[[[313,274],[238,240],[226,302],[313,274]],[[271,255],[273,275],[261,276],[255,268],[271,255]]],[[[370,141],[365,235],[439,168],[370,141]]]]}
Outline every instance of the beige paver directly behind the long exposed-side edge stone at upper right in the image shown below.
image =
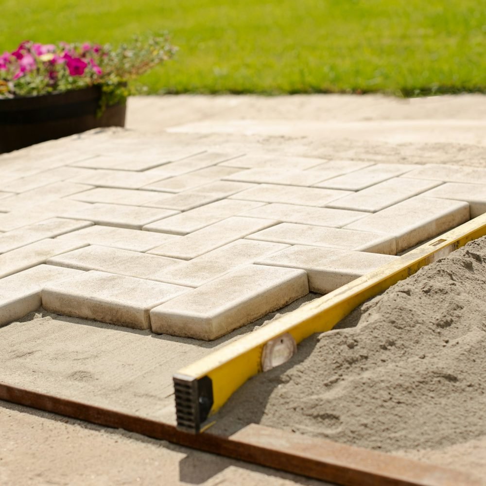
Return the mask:
{"type": "Polygon", "coordinates": [[[409,197],[428,191],[441,184],[439,181],[394,177],[362,191],[332,201],[328,208],[354,209],[356,211],[377,212],[393,206],[409,197]]]}

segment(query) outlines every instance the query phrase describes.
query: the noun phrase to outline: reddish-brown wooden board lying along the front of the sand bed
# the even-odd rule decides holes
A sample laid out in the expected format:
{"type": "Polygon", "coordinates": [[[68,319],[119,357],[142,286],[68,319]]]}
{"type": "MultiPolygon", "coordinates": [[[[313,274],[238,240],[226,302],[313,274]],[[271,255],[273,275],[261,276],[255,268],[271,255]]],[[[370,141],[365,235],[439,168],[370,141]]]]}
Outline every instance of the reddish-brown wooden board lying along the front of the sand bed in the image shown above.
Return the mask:
{"type": "Polygon", "coordinates": [[[191,434],[137,417],[0,383],[0,399],[200,451],[345,486],[479,486],[479,478],[382,452],[251,424],[230,437],[191,434]]]}

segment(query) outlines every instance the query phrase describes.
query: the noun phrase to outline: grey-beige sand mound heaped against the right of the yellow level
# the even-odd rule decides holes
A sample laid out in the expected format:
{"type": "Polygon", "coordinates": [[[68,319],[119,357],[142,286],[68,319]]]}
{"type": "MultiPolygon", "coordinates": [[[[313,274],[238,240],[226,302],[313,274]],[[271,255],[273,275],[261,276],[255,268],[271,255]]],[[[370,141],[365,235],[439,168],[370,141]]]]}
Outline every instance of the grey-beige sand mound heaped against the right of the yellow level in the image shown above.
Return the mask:
{"type": "Polygon", "coordinates": [[[250,422],[398,451],[486,434],[486,238],[421,269],[226,404],[214,431],[250,422]]]}

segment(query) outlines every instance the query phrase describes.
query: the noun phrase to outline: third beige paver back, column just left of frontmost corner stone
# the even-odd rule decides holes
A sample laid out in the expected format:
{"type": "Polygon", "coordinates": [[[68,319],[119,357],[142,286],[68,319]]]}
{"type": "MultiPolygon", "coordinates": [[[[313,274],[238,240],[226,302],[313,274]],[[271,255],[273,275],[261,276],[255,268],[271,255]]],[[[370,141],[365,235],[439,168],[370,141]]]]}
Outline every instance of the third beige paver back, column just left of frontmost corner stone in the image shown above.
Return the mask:
{"type": "Polygon", "coordinates": [[[58,238],[61,240],[109,246],[111,248],[121,248],[122,250],[145,252],[168,241],[174,242],[181,237],[138,229],[95,225],[78,231],[72,231],[58,238]]]}

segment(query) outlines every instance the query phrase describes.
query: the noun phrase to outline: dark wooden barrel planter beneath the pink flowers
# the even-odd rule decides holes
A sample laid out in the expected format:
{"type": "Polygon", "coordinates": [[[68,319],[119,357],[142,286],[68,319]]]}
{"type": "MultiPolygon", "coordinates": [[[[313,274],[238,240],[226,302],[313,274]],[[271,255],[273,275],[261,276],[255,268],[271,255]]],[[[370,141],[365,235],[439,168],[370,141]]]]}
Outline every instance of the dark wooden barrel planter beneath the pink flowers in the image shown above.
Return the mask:
{"type": "Polygon", "coordinates": [[[58,94],[0,99],[0,153],[92,128],[125,126],[125,104],[108,106],[100,118],[98,86],[58,94]]]}

